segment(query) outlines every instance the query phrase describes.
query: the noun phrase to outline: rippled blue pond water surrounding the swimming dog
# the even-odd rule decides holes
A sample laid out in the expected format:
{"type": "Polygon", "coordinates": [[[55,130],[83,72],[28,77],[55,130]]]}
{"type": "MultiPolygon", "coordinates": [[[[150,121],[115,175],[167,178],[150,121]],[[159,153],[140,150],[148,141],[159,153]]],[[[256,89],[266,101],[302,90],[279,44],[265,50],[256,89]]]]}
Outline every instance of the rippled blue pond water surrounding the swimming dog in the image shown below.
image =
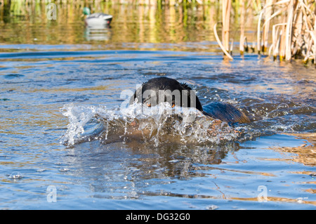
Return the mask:
{"type": "Polygon", "coordinates": [[[199,39],[115,39],[114,50],[41,37],[1,44],[1,209],[315,209],[315,67],[226,61],[199,39]],[[191,110],[185,124],[185,114],[136,116],[136,105],[122,114],[122,93],[157,76],[186,82],[202,105],[232,103],[251,123],[218,126],[191,110]],[[133,121],[143,132],[130,133],[133,121]]]}

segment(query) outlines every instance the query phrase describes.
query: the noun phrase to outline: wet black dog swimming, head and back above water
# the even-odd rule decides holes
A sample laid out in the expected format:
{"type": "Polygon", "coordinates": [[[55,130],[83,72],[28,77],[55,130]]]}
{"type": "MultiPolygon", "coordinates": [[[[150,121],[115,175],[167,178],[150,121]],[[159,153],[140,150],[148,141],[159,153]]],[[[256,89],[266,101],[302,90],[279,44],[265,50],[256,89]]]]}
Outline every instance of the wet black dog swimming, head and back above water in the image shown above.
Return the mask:
{"type": "Polygon", "coordinates": [[[167,77],[154,78],[145,82],[136,90],[129,103],[133,104],[136,99],[147,107],[153,107],[162,102],[168,102],[172,107],[175,105],[195,107],[203,114],[226,121],[228,124],[250,122],[244,112],[228,103],[214,102],[203,108],[192,88],[167,77]]]}

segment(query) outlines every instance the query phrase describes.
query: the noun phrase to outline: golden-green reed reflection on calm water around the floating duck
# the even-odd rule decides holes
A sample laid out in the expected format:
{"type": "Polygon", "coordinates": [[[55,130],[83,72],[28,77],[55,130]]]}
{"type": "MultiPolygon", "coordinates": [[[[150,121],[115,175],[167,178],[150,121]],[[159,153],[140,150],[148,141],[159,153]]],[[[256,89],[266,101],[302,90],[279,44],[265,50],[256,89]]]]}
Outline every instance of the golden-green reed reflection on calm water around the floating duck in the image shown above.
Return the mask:
{"type": "MultiPolygon", "coordinates": [[[[113,15],[113,20],[110,29],[98,34],[92,34],[91,29],[83,31],[84,18],[81,15],[84,6],[81,4],[57,4],[56,7],[56,20],[48,20],[45,4],[14,6],[13,2],[11,6],[0,7],[0,44],[93,44],[107,49],[168,48],[190,51],[218,49],[211,31],[215,22],[220,20],[217,4],[158,7],[100,2],[90,6],[93,12],[108,13],[113,15]],[[126,46],[129,43],[133,45],[126,46]],[[144,45],[146,43],[150,46],[144,45]],[[156,45],[159,43],[173,45],[156,45]]],[[[249,30],[249,43],[254,38],[251,28],[256,25],[256,15],[249,15],[251,17],[254,19],[247,20],[245,25],[246,32],[249,30]]],[[[232,38],[235,38],[238,35],[237,21],[232,25],[236,26],[232,29],[235,30],[232,38]]]]}

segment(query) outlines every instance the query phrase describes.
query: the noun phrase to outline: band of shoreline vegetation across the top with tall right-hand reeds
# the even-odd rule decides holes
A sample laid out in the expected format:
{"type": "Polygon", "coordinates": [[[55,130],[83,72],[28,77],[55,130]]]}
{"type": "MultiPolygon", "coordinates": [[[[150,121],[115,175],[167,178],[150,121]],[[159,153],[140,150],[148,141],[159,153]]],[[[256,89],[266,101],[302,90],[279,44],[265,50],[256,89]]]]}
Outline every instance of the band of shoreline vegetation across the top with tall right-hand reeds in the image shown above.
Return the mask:
{"type": "MultiPolygon", "coordinates": [[[[25,16],[29,8],[45,12],[50,3],[75,11],[86,6],[103,11],[117,5],[150,7],[155,11],[180,8],[183,20],[187,19],[188,9],[202,7],[202,19],[212,17],[216,11],[217,16],[210,19],[209,29],[225,58],[232,60],[232,53],[236,54],[238,49],[240,55],[252,51],[269,55],[274,60],[299,59],[316,65],[315,0],[0,0],[0,22],[8,14],[25,16]],[[253,30],[245,32],[246,27],[249,30],[249,20],[252,20],[253,30]],[[233,26],[237,27],[238,35],[233,26]],[[239,48],[234,48],[234,43],[238,43],[239,48]]],[[[146,19],[152,18],[154,15],[146,19]]]]}

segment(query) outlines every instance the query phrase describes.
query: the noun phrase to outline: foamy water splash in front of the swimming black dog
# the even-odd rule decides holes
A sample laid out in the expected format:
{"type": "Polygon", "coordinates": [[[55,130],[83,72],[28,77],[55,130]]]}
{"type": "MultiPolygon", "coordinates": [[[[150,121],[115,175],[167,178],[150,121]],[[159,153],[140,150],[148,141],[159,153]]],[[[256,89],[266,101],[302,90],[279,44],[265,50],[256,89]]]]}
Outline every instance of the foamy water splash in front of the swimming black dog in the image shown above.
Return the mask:
{"type": "Polygon", "coordinates": [[[207,117],[195,108],[171,107],[161,103],[143,107],[65,105],[62,114],[68,117],[67,131],[60,143],[74,145],[91,140],[101,143],[141,140],[144,143],[215,143],[234,140],[239,131],[225,122],[207,117]]]}

